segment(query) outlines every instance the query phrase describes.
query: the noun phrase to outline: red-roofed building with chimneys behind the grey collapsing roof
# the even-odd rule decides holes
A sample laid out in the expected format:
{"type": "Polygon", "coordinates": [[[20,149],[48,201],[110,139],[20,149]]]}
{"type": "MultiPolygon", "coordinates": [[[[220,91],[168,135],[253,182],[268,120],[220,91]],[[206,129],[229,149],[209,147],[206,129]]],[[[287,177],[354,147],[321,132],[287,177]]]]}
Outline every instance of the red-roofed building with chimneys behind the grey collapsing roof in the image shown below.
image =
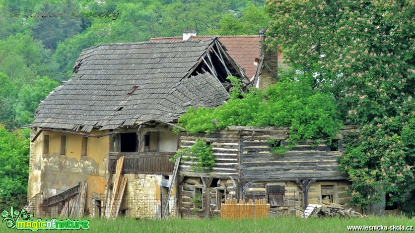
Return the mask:
{"type": "MultiPolygon", "coordinates": [[[[286,68],[281,53],[265,45],[265,30],[252,36],[215,36],[226,47],[229,56],[236,61],[251,80],[250,86],[264,90],[277,82],[278,69],[286,68]]],[[[157,37],[150,41],[206,40],[212,36],[198,36],[194,30],[184,31],[182,37],[157,37]]]]}

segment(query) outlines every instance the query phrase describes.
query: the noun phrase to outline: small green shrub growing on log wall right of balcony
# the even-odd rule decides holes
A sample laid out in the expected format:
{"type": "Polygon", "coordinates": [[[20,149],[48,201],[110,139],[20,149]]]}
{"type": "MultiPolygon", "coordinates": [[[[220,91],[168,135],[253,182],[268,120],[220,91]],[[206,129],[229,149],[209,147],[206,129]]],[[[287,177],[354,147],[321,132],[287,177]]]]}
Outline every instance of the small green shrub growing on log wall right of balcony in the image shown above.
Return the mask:
{"type": "Polygon", "coordinates": [[[190,161],[191,169],[195,172],[212,170],[215,164],[212,147],[202,139],[196,139],[191,147],[180,148],[170,162],[174,163],[179,156],[183,161],[190,161]]]}

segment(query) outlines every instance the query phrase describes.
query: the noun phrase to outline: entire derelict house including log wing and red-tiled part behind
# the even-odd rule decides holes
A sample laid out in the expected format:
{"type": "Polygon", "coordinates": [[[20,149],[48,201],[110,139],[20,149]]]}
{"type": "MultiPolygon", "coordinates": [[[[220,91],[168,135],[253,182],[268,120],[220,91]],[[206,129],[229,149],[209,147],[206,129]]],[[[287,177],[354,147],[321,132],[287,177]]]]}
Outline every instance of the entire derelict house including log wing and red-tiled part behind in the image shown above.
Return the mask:
{"type": "Polygon", "coordinates": [[[39,200],[39,212],[62,216],[84,182],[79,213],[103,216],[109,193],[117,189],[117,161],[124,158],[127,185],[117,213],[132,218],[215,216],[227,198],[266,199],[271,211],[287,215],[298,215],[307,203],[346,206],[350,183],[337,159],[351,128],[339,132],[337,146],[304,142],[284,156],[270,147],[284,145],[288,128],[173,133],[189,107],[217,107],[229,98],[228,75],[244,87],[264,89],[277,81],[282,61],[266,50],[261,33],[184,36],[104,44],[81,53],[74,77],[36,112],[28,201],[39,200]],[[212,146],[211,171],[195,172],[185,160],[169,162],[198,138],[212,146]]]}

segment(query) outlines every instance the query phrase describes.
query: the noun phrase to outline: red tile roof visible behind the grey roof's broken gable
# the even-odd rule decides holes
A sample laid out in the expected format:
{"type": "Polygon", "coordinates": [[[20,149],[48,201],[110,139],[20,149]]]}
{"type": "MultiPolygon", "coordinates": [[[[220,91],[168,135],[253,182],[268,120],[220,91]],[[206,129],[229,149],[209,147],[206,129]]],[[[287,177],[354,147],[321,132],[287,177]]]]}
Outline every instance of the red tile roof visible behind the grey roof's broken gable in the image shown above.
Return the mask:
{"type": "MultiPolygon", "coordinates": [[[[219,38],[219,41],[226,47],[227,53],[242,68],[245,74],[252,78],[257,71],[254,64],[255,58],[260,58],[259,36],[192,36],[190,40],[207,40],[212,37],[219,38]]],[[[177,41],[182,37],[158,37],[151,38],[150,41],[177,41]]]]}

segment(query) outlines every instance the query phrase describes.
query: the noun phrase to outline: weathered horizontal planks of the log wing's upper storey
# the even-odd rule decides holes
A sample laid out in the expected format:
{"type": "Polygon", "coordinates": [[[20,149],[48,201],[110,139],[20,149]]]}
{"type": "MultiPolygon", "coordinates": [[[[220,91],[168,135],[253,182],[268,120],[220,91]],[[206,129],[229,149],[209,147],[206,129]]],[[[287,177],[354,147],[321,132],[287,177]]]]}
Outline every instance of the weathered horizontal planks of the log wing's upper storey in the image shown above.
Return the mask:
{"type": "MultiPolygon", "coordinates": [[[[345,127],[336,139],[342,139],[343,134],[353,130],[345,127]]],[[[306,179],[317,177],[325,180],[344,180],[346,174],[339,171],[338,159],[343,151],[330,151],[327,141],[320,140],[300,142],[286,152],[285,155],[275,155],[270,151],[267,139],[281,140],[285,144],[288,138],[288,128],[273,127],[242,127],[232,126],[214,134],[180,134],[180,147],[190,147],[196,139],[210,142],[215,156],[215,166],[211,171],[195,173],[191,170],[191,162],[182,162],[180,175],[238,177],[240,180],[274,180],[286,181],[294,178],[306,179]]]]}

